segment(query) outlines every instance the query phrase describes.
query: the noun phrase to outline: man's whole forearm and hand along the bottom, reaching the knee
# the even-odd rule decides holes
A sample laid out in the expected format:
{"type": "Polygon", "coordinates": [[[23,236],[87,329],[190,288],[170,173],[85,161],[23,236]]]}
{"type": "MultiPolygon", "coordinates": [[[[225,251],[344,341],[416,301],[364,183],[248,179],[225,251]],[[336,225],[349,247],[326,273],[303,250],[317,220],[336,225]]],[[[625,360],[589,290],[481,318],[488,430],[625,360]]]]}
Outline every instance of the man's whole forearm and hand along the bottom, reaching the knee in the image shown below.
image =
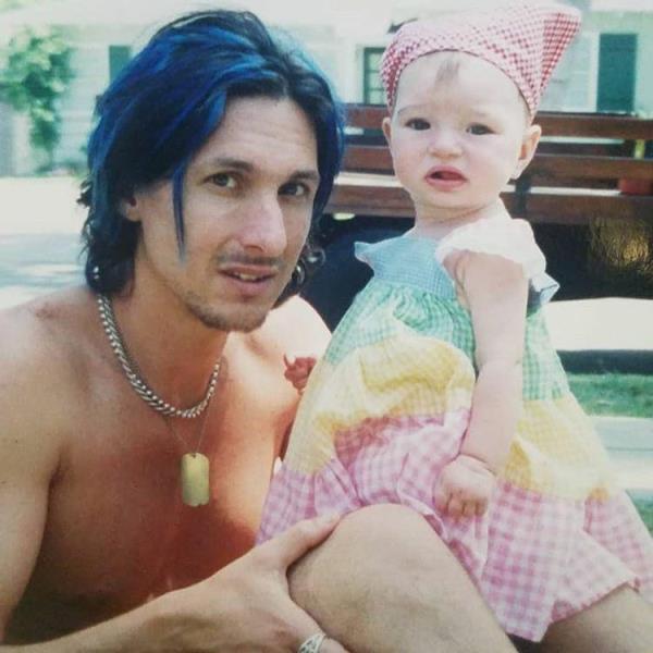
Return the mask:
{"type": "MultiPolygon", "coordinates": [[[[324,540],[336,519],[295,525],[196,586],[79,632],[7,653],[295,651],[321,629],[289,599],[286,569],[324,540]]],[[[326,640],[322,653],[345,653],[326,640]]]]}

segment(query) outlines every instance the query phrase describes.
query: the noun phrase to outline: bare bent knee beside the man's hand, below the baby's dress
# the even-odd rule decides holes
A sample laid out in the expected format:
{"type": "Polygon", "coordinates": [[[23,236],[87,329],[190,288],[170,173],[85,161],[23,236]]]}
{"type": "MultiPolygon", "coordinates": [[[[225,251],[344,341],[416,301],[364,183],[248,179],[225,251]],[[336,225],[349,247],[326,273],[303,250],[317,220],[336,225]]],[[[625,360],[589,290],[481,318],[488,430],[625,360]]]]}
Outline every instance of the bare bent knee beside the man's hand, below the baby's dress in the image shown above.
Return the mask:
{"type": "Polygon", "coordinates": [[[296,603],[353,653],[515,653],[456,558],[402,506],[352,513],[289,580],[296,603]]]}

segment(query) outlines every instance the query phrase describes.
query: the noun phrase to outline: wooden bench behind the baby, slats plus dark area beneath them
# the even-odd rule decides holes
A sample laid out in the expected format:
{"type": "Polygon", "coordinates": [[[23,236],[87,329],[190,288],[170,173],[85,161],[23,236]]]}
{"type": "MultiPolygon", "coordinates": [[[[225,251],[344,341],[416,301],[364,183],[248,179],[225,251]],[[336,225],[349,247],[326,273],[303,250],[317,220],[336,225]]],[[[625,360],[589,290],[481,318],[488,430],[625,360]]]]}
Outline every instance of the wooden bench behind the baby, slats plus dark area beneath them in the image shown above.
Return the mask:
{"type": "MultiPolygon", "coordinates": [[[[331,328],[371,274],[355,260],[354,242],[396,236],[412,223],[380,131],[385,115],[384,107],[347,106],[343,172],[317,233],[326,260],[304,291],[331,328]]],[[[503,198],[532,223],[562,285],[556,298],[653,298],[653,158],[633,156],[638,140],[653,147],[653,120],[541,112],[537,121],[538,153],[503,198]],[[646,194],[621,193],[621,180],[643,183],[646,194]]]]}

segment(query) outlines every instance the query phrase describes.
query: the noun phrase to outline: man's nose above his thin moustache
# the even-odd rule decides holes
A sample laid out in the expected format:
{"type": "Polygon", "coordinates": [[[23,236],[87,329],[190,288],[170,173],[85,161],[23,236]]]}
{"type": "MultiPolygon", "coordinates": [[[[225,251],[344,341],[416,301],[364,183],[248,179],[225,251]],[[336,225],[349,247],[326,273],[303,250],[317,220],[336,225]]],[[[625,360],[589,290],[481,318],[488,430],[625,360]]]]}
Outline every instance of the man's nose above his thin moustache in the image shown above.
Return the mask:
{"type": "Polygon", "coordinates": [[[262,256],[281,256],[286,249],[287,234],[279,196],[255,197],[246,211],[241,232],[245,249],[262,256]]]}

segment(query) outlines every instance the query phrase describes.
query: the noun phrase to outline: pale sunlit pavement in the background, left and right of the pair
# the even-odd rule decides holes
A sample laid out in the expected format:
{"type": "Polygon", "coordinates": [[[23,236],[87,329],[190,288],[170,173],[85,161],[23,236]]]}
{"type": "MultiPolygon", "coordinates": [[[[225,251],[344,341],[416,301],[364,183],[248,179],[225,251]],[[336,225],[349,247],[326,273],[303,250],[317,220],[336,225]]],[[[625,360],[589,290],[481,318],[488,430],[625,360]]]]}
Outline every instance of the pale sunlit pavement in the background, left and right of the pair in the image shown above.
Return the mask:
{"type": "MultiPolygon", "coordinates": [[[[82,280],[84,212],[67,177],[0,178],[0,308],[82,280]]],[[[653,356],[653,300],[557,301],[546,320],[557,349],[653,356]]],[[[652,419],[595,418],[625,486],[653,497],[652,419]]]]}

